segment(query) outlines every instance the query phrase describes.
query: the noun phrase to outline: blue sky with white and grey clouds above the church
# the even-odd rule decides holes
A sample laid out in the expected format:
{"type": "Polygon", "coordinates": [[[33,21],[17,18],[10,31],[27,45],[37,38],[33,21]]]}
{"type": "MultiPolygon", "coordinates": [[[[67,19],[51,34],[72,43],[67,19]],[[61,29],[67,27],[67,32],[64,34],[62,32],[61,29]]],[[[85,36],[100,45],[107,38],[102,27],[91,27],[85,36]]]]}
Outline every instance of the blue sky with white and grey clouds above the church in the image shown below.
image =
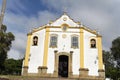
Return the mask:
{"type": "MultiPolygon", "coordinates": [[[[1,9],[2,0],[0,0],[1,9]]],[[[109,50],[113,39],[120,36],[120,0],[7,0],[3,24],[14,33],[15,41],[9,58],[22,58],[27,33],[59,18],[63,11],[103,36],[103,49],[109,50]]]]}

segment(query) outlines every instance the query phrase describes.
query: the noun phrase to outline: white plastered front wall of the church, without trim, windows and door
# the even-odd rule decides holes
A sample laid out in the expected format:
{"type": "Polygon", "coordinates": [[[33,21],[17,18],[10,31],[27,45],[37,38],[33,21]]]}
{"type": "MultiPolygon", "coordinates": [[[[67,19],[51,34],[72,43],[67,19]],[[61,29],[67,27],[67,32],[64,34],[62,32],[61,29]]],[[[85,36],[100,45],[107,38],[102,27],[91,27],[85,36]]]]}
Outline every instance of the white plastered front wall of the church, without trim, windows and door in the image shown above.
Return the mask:
{"type": "MultiPolygon", "coordinates": [[[[47,25],[44,25],[41,28],[38,28],[36,32],[32,32],[32,39],[33,37],[38,37],[38,45],[33,46],[31,43],[30,46],[30,55],[29,55],[29,62],[28,62],[28,73],[38,73],[38,67],[43,67],[43,58],[44,58],[44,49],[45,47],[45,35],[46,35],[46,27],[50,26],[49,31],[49,40],[48,41],[48,54],[45,59],[47,59],[47,73],[53,74],[55,69],[55,53],[54,51],[58,51],[57,54],[60,53],[67,53],[70,54],[72,51],[72,73],[73,75],[79,75],[80,67],[80,25],[70,19],[69,16],[66,14],[62,15],[59,19],[54,22],[50,22],[47,25]],[[61,26],[61,27],[60,27],[61,26]],[[66,27],[63,27],[66,26],[66,27]],[[64,31],[63,31],[64,29],[64,31]],[[57,39],[57,48],[50,47],[50,35],[56,34],[58,36],[57,39]],[[71,37],[73,35],[78,36],[78,48],[71,48],[71,37]]],[[[99,76],[98,75],[98,48],[97,48],[97,36],[96,34],[92,33],[90,29],[83,27],[83,34],[84,34],[84,68],[89,69],[88,75],[90,76],[99,76]],[[96,39],[96,48],[90,48],[90,39],[96,39]]],[[[46,47],[46,48],[47,48],[46,47]]],[[[27,53],[28,54],[28,53],[27,53]]],[[[25,57],[27,59],[27,57],[25,57]]],[[[69,61],[69,60],[68,60],[69,61]]],[[[46,63],[46,62],[45,62],[46,63]]],[[[68,62],[69,63],[69,62],[68,62]]],[[[23,67],[25,65],[23,64],[23,67]]],[[[58,62],[59,66],[59,62],[58,62]]],[[[68,69],[69,70],[69,69],[68,69]]],[[[25,71],[24,71],[25,72],[25,71]]],[[[69,72],[69,71],[68,71],[69,72]]]]}

